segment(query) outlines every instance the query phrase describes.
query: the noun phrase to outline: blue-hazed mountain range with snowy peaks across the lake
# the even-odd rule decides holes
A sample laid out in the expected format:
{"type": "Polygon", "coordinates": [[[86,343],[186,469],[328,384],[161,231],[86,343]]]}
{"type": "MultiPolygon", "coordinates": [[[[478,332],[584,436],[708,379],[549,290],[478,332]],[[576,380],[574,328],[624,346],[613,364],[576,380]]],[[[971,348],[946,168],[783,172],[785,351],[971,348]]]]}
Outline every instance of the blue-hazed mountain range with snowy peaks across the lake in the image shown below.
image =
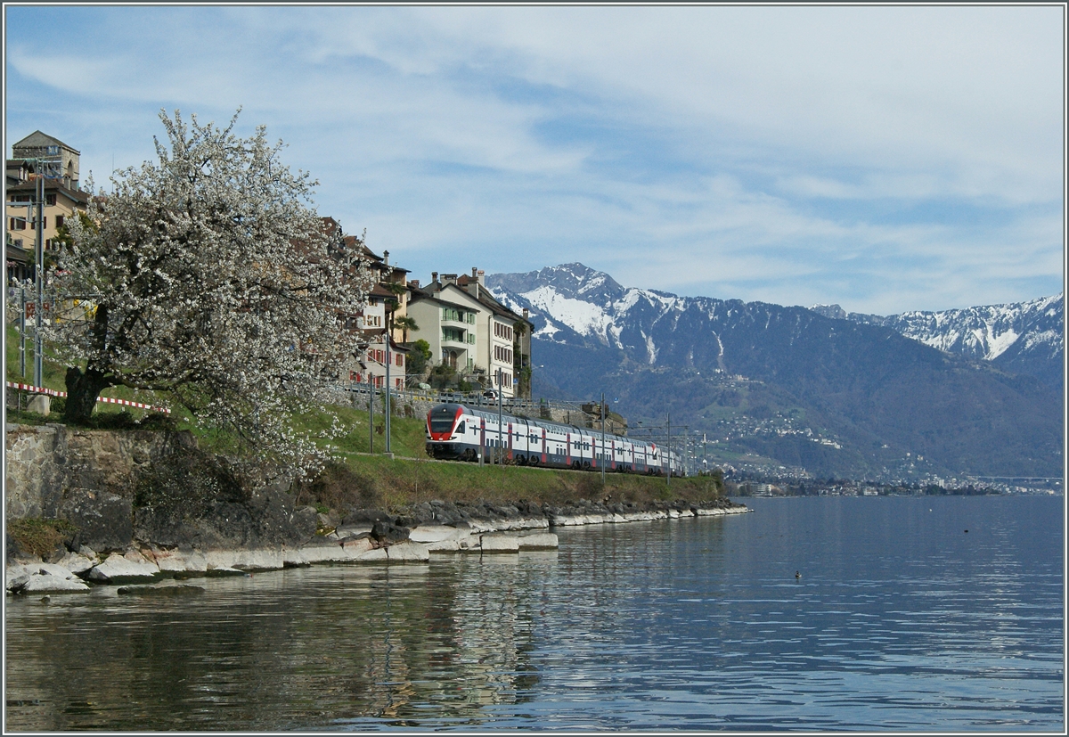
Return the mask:
{"type": "MultiPolygon", "coordinates": [[[[1062,474],[1062,296],[881,317],[624,288],[580,263],[495,274],[534,324],[534,396],[616,400],[710,460],[873,479],[1062,474]]],[[[673,442],[678,442],[673,441],[673,442]]]]}

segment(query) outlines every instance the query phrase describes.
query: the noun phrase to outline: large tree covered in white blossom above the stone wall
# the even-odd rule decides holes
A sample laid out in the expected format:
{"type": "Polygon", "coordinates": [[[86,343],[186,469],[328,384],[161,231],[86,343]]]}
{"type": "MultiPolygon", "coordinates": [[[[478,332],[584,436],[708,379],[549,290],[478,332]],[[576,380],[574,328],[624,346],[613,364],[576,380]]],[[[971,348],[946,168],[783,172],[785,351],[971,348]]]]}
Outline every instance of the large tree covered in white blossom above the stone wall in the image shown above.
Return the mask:
{"type": "Polygon", "coordinates": [[[64,416],[84,423],[109,386],[151,389],[300,475],[322,454],[288,420],[357,350],[345,319],[370,272],[262,126],[243,139],[237,114],[226,128],[160,120],[158,163],[91,199],[55,275],[66,305],[88,306],[49,328],[69,366],[64,416]]]}

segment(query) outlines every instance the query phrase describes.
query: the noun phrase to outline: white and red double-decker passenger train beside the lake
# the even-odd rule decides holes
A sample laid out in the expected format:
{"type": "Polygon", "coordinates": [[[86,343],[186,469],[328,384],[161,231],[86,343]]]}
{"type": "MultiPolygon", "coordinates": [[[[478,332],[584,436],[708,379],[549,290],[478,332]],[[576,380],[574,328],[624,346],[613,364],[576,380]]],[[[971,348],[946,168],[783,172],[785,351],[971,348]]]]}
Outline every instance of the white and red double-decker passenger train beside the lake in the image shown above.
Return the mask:
{"type": "Polygon", "coordinates": [[[455,402],[427,413],[427,454],[454,461],[478,461],[481,455],[547,469],[683,475],[680,456],[656,443],[610,432],[603,442],[599,430],[510,414],[502,414],[498,426],[496,412],[455,402]]]}

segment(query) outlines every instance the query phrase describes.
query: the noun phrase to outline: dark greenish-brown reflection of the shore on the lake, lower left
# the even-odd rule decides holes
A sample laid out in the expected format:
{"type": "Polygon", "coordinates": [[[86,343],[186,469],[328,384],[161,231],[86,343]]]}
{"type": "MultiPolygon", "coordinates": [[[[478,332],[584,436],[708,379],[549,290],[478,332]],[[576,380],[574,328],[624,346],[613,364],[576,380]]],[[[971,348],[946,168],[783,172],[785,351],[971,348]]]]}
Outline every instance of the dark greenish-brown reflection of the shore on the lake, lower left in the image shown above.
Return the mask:
{"type": "Polygon", "coordinates": [[[556,553],[201,581],[196,598],[7,602],[7,728],[478,724],[516,704],[556,553]],[[433,573],[432,573],[433,568],[433,573]]]}

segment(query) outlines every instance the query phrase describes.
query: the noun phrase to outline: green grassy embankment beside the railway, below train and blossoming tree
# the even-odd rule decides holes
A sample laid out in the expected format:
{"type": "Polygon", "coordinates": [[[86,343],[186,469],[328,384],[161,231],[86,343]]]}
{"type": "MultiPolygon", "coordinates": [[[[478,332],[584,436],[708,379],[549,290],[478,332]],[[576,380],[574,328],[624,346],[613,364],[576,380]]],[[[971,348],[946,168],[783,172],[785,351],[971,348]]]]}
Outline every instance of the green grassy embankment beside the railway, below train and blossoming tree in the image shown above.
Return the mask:
{"type": "MultiPolygon", "coordinates": [[[[7,326],[6,359],[7,381],[29,383],[19,372],[18,333],[11,325],[7,326]]],[[[32,367],[33,347],[28,341],[27,369],[31,377],[32,367]]],[[[64,390],[64,374],[65,369],[49,360],[46,354],[45,386],[64,390]]],[[[123,386],[111,387],[103,396],[160,403],[153,393],[134,391],[123,386]]],[[[59,401],[56,400],[57,403],[59,401]]],[[[340,437],[320,437],[316,443],[320,447],[329,448],[337,461],[319,479],[305,485],[298,492],[297,502],[300,504],[320,504],[343,510],[350,506],[396,509],[433,500],[525,500],[539,504],[564,504],[579,498],[645,503],[677,498],[699,502],[716,496],[716,486],[708,476],[673,478],[668,482],[664,478],[609,473],[603,487],[601,474],[593,472],[510,465],[480,467],[475,463],[433,461],[428,458],[424,448],[423,417],[390,418],[390,450],[397,456],[391,460],[381,455],[386,450],[382,414],[375,414],[375,428],[371,430],[367,411],[335,405],[330,410],[338,416],[345,432],[340,437]],[[369,455],[372,451],[374,455],[369,455]]],[[[153,416],[160,418],[159,413],[106,403],[99,403],[94,412],[95,425],[100,428],[134,428],[138,420],[153,416]]],[[[25,411],[10,411],[9,419],[27,424],[62,421],[57,412],[46,419],[25,411]]],[[[226,435],[198,427],[181,408],[174,411],[167,425],[177,430],[189,430],[197,436],[200,446],[207,450],[226,452],[231,445],[226,435]]],[[[330,417],[326,412],[303,415],[294,418],[294,426],[315,436],[330,427],[330,417]]]]}

